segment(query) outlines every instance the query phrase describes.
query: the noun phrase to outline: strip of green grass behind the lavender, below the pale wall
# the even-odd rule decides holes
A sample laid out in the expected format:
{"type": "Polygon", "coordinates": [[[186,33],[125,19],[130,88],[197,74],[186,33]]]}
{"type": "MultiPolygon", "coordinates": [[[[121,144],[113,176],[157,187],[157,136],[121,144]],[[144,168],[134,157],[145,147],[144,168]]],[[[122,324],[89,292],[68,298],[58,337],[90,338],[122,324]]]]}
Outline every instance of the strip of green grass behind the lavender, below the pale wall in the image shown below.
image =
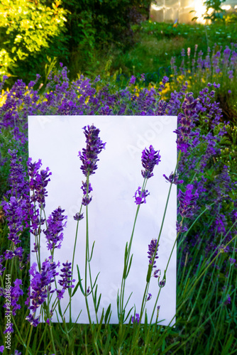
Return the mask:
{"type": "Polygon", "coordinates": [[[94,60],[88,63],[83,59],[83,53],[72,53],[69,64],[70,78],[75,79],[78,72],[95,77],[101,74],[106,62],[111,60],[111,75],[120,70],[123,75],[153,74],[153,82],[157,82],[163,75],[170,73],[170,59],[177,58],[177,65],[181,63],[182,48],[194,52],[194,45],[198,44],[198,51],[204,55],[207,48],[217,44],[216,50],[222,45],[237,42],[236,23],[214,23],[209,26],[193,24],[154,23],[146,21],[133,26],[134,45],[119,49],[114,45],[98,48],[94,53],[94,60]],[[79,60],[81,58],[81,60],[79,60]],[[75,64],[77,62],[77,65],[75,64]],[[80,63],[83,65],[80,66],[80,63]],[[88,65],[89,64],[89,65],[88,65]]]}

